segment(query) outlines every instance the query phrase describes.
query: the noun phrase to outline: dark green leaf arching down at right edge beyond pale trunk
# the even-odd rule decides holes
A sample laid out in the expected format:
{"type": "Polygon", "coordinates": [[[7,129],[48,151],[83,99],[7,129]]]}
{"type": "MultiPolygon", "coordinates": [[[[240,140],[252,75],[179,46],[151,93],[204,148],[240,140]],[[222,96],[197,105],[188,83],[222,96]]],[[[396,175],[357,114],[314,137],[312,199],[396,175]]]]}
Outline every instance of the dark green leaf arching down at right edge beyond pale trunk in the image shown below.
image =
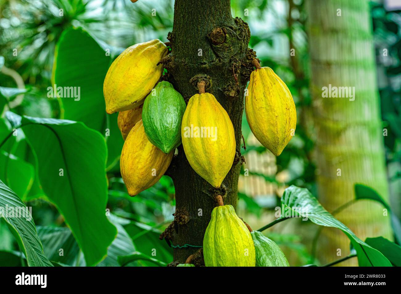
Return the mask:
{"type": "Polygon", "coordinates": [[[391,218],[391,226],[393,227],[395,239],[399,244],[401,244],[401,222],[397,218],[397,215],[391,212],[391,207],[387,202],[384,201],[383,198],[371,187],[365,186],[363,184],[355,184],[355,198],[357,200],[360,199],[369,199],[374,200],[381,203],[389,212],[391,218]]]}

